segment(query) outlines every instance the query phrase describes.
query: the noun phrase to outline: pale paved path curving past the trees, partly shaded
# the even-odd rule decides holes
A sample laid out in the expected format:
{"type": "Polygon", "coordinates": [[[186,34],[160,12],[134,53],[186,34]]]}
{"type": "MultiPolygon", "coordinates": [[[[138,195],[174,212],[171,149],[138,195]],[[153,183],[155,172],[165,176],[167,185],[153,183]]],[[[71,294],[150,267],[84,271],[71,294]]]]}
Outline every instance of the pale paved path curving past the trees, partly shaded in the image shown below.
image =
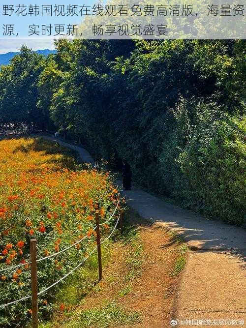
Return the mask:
{"type": "MultiPolygon", "coordinates": [[[[94,163],[85,149],[45,138],[77,150],[83,161],[94,163]]],[[[143,218],[181,235],[191,247],[173,312],[178,326],[246,327],[240,321],[246,322],[246,231],[207,220],[140,189],[123,195],[143,218]]]]}

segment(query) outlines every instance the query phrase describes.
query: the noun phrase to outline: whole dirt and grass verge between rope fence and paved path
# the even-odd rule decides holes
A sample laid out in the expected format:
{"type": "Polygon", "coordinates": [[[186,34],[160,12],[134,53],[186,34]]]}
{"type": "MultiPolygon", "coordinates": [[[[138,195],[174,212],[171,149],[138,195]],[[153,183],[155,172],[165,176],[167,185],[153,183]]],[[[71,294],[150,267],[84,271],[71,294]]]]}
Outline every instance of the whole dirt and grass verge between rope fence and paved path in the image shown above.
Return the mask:
{"type": "Polygon", "coordinates": [[[186,250],[181,240],[129,209],[123,233],[111,246],[103,280],[73,311],[60,313],[56,324],[45,328],[168,327],[179,281],[179,272],[173,273],[186,250]]]}

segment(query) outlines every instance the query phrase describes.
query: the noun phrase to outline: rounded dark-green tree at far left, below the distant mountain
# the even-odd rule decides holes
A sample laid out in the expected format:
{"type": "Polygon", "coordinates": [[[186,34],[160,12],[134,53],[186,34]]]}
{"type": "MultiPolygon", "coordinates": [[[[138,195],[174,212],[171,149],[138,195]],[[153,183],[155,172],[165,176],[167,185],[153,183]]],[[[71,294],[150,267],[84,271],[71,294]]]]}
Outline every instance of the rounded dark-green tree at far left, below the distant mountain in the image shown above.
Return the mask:
{"type": "Polygon", "coordinates": [[[37,110],[37,81],[45,67],[44,57],[27,47],[0,70],[0,124],[42,126],[37,110]]]}

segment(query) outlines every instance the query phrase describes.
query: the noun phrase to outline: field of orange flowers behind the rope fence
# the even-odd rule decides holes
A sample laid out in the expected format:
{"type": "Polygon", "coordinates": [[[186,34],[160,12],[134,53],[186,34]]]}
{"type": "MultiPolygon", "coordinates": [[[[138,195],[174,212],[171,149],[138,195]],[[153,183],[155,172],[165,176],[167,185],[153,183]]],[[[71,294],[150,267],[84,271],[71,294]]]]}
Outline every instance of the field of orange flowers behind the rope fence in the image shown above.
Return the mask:
{"type": "MultiPolygon", "coordinates": [[[[95,237],[94,212],[100,219],[113,212],[118,191],[107,173],[79,169],[73,153],[40,138],[0,141],[0,304],[31,294],[30,266],[5,270],[30,261],[30,239],[37,239],[37,258],[76,247],[38,263],[39,290],[74,268],[95,237]]],[[[107,236],[113,222],[102,227],[107,236]]],[[[39,297],[39,309],[51,310],[56,290],[39,297]]],[[[0,325],[28,320],[31,301],[0,308],[0,325]]]]}

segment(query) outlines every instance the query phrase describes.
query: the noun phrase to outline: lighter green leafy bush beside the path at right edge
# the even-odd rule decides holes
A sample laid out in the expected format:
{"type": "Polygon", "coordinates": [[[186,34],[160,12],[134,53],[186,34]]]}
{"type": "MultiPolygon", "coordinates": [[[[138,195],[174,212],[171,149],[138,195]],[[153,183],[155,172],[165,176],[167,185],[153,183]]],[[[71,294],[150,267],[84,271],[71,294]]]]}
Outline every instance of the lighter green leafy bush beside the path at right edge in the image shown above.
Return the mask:
{"type": "Polygon", "coordinates": [[[242,225],[246,119],[184,100],[174,118],[160,155],[163,183],[185,207],[242,225]]]}

